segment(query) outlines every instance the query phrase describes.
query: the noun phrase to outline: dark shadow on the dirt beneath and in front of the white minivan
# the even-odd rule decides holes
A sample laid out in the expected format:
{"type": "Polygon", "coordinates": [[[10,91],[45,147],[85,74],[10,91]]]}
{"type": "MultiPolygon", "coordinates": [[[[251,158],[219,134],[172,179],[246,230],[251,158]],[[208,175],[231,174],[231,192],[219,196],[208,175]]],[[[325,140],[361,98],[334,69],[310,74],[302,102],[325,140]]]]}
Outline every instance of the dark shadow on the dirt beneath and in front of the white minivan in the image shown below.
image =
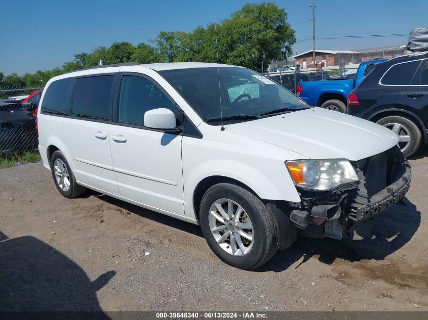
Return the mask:
{"type": "MultiPolygon", "coordinates": [[[[203,237],[201,227],[198,225],[146,210],[109,196],[98,193],[93,193],[93,195],[147,219],[203,237]]],[[[280,272],[289,268],[302,257],[303,260],[300,264],[305,263],[314,255],[319,256],[318,260],[326,264],[332,264],[336,258],[351,262],[364,259],[383,260],[386,256],[403,247],[416,233],[419,225],[420,212],[416,210],[415,205],[405,198],[403,205],[396,205],[368,222],[371,234],[374,235],[373,239],[358,241],[298,237],[294,245],[279,251],[272,260],[255,271],[272,270],[280,272]]]]}

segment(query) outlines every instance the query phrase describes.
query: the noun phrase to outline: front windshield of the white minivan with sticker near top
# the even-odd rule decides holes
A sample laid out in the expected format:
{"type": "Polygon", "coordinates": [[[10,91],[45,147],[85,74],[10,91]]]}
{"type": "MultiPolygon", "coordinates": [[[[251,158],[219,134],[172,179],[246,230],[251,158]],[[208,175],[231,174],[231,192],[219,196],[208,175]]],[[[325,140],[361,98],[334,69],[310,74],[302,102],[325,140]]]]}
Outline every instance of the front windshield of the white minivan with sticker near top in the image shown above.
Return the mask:
{"type": "Polygon", "coordinates": [[[217,67],[160,71],[189,105],[204,119],[240,120],[308,106],[278,83],[247,68],[217,67]],[[286,110],[287,109],[287,110],[286,110]],[[249,116],[249,117],[243,117],[249,116]],[[238,116],[238,117],[237,117],[238,116]]]}

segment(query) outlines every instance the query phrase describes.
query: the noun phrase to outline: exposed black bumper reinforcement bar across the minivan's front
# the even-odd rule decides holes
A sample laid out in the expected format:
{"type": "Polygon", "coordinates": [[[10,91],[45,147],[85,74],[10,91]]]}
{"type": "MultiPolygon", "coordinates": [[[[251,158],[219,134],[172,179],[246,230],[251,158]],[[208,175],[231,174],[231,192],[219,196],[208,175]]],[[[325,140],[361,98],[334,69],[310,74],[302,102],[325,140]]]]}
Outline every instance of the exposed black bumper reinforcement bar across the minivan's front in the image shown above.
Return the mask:
{"type": "Polygon", "coordinates": [[[410,188],[411,178],[410,164],[405,161],[403,170],[398,174],[393,184],[373,195],[370,198],[369,205],[352,203],[349,217],[357,221],[363,221],[390,208],[404,198],[410,188]]]}

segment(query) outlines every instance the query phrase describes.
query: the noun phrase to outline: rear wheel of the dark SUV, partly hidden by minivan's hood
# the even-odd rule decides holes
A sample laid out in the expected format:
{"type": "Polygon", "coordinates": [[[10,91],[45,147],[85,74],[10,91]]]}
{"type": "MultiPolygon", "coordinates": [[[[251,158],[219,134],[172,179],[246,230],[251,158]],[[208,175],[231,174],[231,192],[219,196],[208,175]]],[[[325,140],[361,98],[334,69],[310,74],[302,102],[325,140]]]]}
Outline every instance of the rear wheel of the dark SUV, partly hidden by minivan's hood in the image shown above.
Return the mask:
{"type": "Polygon", "coordinates": [[[398,146],[406,158],[414,154],[422,142],[422,133],[419,128],[407,118],[390,116],[382,118],[376,123],[393,130],[400,136],[398,146]]]}

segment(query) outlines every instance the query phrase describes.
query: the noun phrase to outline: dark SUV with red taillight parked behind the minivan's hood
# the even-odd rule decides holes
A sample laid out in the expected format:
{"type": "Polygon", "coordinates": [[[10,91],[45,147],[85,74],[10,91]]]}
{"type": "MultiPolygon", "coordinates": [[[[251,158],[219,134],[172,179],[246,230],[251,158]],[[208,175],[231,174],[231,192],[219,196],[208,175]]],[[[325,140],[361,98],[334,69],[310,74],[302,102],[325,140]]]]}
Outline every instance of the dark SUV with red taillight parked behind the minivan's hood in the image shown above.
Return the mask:
{"type": "Polygon", "coordinates": [[[393,130],[403,154],[411,156],[428,142],[428,52],[374,65],[349,94],[347,113],[393,130]]]}

